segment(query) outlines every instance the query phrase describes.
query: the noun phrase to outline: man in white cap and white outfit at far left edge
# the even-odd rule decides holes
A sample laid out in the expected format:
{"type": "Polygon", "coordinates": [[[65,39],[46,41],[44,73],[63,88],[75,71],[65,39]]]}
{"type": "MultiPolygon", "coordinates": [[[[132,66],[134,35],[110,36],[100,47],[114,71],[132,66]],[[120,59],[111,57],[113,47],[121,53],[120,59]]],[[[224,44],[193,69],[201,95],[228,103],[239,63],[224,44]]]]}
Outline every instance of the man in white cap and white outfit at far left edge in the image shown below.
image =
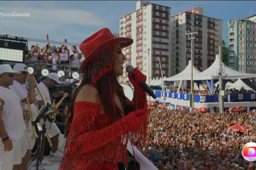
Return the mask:
{"type": "Polygon", "coordinates": [[[13,77],[17,71],[9,64],[0,65],[0,98],[3,109],[0,110],[0,169],[18,170],[22,161],[20,139],[24,134],[20,98],[9,88],[13,84],[13,77]]]}

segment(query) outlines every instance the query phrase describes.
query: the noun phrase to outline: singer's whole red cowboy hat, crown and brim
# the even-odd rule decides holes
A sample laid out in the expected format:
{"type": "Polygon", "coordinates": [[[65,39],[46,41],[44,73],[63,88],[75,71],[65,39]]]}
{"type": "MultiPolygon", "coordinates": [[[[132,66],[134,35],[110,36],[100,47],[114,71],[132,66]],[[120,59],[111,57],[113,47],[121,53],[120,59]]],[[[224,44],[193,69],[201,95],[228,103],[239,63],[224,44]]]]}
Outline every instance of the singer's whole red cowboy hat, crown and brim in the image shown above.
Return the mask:
{"type": "Polygon", "coordinates": [[[116,43],[119,43],[121,48],[124,48],[131,45],[133,43],[133,39],[114,37],[108,28],[103,28],[82,41],[80,44],[80,50],[84,54],[85,60],[79,68],[79,73],[84,72],[86,64],[89,63],[89,61],[92,61],[92,59],[97,56],[102,49],[116,43]]]}

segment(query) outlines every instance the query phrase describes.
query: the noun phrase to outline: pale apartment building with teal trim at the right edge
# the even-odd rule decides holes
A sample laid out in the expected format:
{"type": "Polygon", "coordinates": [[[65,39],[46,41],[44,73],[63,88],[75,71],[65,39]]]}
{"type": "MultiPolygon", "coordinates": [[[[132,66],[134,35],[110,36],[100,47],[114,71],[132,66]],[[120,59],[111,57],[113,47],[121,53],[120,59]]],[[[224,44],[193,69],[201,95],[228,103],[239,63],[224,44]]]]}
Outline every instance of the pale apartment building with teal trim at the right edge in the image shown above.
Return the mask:
{"type": "Polygon", "coordinates": [[[228,21],[228,66],[256,73],[256,15],[228,21]]]}

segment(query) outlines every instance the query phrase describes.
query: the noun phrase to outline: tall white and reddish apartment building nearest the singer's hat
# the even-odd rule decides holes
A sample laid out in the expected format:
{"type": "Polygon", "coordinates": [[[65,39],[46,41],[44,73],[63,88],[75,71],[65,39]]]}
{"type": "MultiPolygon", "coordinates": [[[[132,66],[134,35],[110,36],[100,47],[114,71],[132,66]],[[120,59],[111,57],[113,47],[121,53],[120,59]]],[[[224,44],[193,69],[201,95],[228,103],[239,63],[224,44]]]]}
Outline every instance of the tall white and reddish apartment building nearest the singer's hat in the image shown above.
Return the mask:
{"type": "MultiPolygon", "coordinates": [[[[120,36],[134,40],[131,46],[123,49],[127,58],[125,66],[139,68],[150,78],[161,77],[159,58],[163,76],[170,75],[170,7],[144,1],[136,2],[136,10],[120,18],[120,36]]],[[[128,81],[127,73],[120,78],[120,83],[128,81]]]]}

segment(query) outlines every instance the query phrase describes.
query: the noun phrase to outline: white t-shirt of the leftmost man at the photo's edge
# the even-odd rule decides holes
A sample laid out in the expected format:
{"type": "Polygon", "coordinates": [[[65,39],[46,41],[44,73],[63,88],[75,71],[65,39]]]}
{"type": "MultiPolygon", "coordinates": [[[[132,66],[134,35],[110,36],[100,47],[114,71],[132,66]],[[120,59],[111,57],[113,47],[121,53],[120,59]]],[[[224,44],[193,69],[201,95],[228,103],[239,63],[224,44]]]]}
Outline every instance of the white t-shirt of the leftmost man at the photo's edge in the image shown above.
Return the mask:
{"type": "Polygon", "coordinates": [[[5,130],[11,140],[20,140],[25,130],[20,98],[12,89],[2,86],[0,86],[0,97],[5,103],[2,111],[5,130]]]}

